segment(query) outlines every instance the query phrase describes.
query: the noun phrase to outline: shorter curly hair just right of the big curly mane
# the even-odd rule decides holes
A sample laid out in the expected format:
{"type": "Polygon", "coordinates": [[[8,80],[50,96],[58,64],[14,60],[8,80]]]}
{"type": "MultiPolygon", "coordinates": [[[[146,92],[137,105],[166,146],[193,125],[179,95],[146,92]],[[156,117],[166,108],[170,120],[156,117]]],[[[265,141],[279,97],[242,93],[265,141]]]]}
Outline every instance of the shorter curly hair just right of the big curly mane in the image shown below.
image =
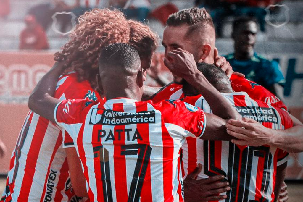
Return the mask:
{"type": "Polygon", "coordinates": [[[141,22],[128,20],[128,25],[130,27],[129,45],[138,51],[141,60],[151,57],[159,45],[159,36],[141,22]]]}

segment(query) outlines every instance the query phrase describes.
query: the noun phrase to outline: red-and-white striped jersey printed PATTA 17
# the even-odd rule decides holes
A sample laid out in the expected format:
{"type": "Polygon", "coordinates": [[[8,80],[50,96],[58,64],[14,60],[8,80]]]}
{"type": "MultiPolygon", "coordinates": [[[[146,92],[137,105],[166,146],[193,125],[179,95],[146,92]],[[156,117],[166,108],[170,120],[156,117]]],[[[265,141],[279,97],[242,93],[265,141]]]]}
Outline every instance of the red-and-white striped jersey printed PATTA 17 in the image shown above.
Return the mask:
{"type": "Polygon", "coordinates": [[[62,101],[55,120],[76,144],[91,201],[183,201],[180,149],[204,112],[182,101],[62,101]]]}

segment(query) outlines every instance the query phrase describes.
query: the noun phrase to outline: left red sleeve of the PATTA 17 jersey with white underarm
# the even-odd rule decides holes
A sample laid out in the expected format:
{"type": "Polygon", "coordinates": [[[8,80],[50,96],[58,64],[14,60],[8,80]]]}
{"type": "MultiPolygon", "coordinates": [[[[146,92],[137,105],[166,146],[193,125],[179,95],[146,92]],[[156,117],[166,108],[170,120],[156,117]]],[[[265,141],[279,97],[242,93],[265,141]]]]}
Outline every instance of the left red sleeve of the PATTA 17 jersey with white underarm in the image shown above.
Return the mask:
{"type": "Polygon", "coordinates": [[[80,127],[93,102],[88,100],[64,100],[57,104],[54,111],[56,123],[73,138],[77,138],[80,127]]]}

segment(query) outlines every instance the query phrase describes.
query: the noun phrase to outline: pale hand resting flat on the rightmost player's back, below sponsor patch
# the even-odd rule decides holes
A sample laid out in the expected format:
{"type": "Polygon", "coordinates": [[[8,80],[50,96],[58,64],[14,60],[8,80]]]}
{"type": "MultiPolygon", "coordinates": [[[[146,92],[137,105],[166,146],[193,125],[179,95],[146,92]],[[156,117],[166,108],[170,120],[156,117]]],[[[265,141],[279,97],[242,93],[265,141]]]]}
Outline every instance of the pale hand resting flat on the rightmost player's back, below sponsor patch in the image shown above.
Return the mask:
{"type": "Polygon", "coordinates": [[[232,143],[238,145],[261,146],[270,144],[274,137],[274,130],[264,127],[257,121],[249,118],[242,120],[229,120],[225,125],[227,133],[238,140],[231,140],[232,143]]]}

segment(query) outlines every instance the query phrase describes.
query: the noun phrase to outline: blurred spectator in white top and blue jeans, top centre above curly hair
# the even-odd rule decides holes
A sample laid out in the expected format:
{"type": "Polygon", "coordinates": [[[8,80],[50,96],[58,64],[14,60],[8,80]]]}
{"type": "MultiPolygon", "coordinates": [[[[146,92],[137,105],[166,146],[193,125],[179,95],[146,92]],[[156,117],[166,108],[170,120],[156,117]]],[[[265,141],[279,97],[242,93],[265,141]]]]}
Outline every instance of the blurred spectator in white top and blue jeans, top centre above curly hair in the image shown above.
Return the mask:
{"type": "Polygon", "coordinates": [[[144,22],[150,12],[148,0],[109,0],[109,6],[123,8],[122,12],[129,19],[136,19],[144,22]]]}

